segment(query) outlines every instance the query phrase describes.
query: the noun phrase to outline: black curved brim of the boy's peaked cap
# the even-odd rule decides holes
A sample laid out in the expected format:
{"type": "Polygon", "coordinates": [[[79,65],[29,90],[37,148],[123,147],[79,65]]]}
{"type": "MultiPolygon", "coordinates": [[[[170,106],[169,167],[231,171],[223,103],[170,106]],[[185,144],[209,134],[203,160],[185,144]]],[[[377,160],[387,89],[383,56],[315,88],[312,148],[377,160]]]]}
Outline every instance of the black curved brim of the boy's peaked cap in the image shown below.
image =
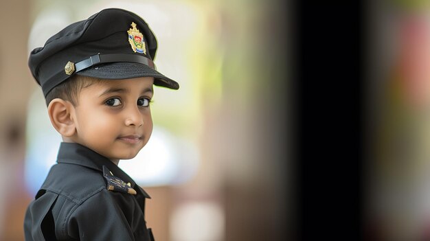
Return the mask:
{"type": "Polygon", "coordinates": [[[148,67],[147,65],[135,62],[113,62],[110,64],[90,67],[76,73],[79,76],[88,76],[93,78],[107,80],[123,80],[139,77],[154,77],[154,84],[159,87],[169,89],[179,89],[179,84],[159,71],[148,67]]]}

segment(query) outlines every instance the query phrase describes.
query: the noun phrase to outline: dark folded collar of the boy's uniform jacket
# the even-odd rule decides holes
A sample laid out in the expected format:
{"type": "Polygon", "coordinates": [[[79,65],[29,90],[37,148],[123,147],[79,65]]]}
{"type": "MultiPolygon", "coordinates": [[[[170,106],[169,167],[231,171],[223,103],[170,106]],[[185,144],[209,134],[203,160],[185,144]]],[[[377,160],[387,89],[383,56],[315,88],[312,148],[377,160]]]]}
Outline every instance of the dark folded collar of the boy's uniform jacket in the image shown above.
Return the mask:
{"type": "Polygon", "coordinates": [[[139,191],[146,197],[150,196],[135,181],[131,179],[121,168],[113,163],[108,158],[98,154],[97,152],[82,146],[77,143],[61,142],[58,150],[57,163],[68,163],[74,165],[82,165],[86,168],[91,168],[103,173],[103,165],[108,168],[114,176],[119,177],[122,181],[130,183],[136,192],[139,191]]]}

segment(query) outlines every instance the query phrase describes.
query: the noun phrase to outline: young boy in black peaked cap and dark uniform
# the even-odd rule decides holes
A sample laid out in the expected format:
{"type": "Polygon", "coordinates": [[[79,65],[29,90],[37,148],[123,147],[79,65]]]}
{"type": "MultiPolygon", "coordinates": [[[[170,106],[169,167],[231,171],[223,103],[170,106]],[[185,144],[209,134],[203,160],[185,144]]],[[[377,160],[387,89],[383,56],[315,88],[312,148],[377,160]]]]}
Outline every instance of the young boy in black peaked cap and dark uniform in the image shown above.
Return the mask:
{"type": "Polygon", "coordinates": [[[157,41],[136,14],[106,9],[73,23],[30,54],[52,126],[63,142],[25,214],[25,240],[154,240],[146,192],[117,167],[152,132],[157,41]]]}

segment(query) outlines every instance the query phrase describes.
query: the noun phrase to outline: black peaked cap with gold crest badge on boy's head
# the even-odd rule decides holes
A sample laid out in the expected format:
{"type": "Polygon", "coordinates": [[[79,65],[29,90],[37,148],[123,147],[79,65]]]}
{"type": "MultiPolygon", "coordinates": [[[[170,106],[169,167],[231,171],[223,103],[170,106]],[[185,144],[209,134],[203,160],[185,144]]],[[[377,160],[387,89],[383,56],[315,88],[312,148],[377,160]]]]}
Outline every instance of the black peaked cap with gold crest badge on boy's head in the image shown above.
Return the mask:
{"type": "Polygon", "coordinates": [[[47,95],[71,76],[103,79],[154,77],[154,84],[179,89],[152,62],[157,39],[141,17],[109,8],[65,27],[30,53],[32,75],[47,95]]]}

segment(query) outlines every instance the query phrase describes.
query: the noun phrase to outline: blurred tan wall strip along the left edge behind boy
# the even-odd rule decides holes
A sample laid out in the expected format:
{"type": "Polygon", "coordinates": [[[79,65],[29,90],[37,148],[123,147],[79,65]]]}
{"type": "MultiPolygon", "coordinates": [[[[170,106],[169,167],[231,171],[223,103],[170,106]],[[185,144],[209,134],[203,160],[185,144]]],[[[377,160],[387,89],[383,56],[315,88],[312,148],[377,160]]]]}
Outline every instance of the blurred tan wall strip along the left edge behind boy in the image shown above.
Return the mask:
{"type": "Polygon", "coordinates": [[[30,196],[23,185],[25,119],[36,87],[27,67],[31,1],[0,8],[0,240],[23,240],[23,215],[30,196]]]}

